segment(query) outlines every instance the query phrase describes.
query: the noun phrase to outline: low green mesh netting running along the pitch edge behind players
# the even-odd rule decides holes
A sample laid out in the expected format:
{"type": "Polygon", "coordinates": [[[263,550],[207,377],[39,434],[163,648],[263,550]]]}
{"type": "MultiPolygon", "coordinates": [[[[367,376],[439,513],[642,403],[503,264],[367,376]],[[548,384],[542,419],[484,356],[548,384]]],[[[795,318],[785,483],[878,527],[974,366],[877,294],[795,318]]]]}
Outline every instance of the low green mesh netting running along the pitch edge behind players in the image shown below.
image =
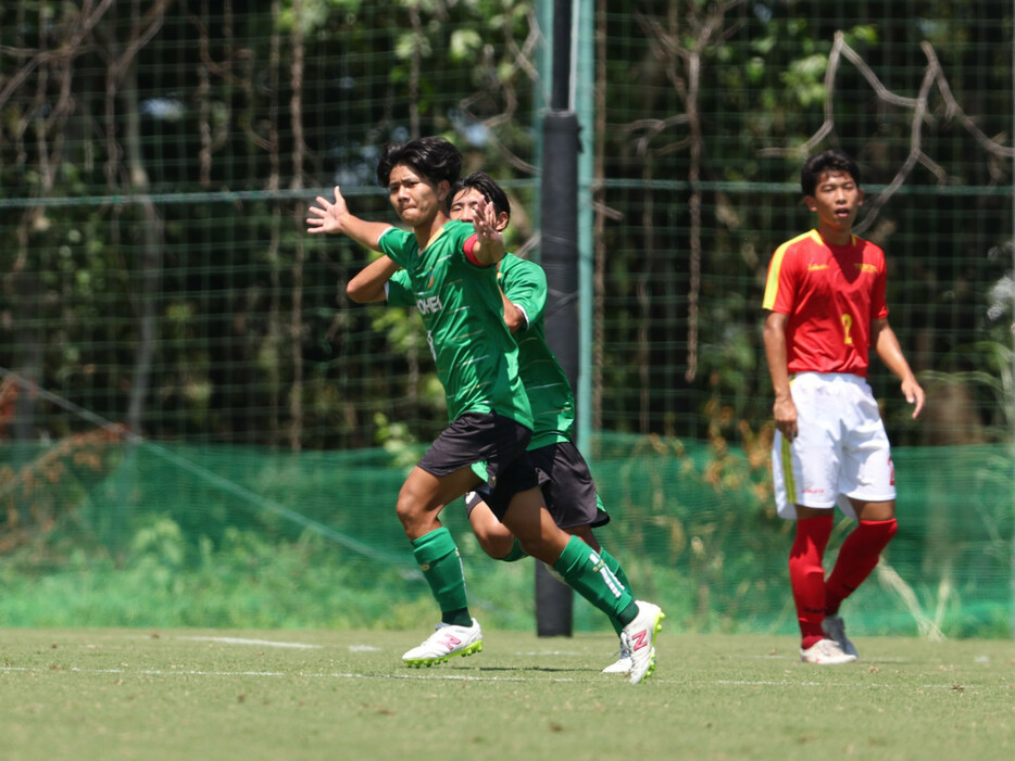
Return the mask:
{"type": "MultiPolygon", "coordinates": [[[[795,631],[790,524],[773,515],[764,454],[597,440],[613,516],[600,540],[677,631],[795,631]]],[[[436,614],[393,512],[406,468],[383,449],[286,454],[97,434],[2,455],[23,462],[0,473],[9,520],[20,516],[0,567],[7,623],[402,626],[436,614]]],[[[997,445],[897,451],[901,530],[847,604],[851,631],[1008,633],[1010,462],[997,445]]],[[[444,518],[485,621],[532,626],[534,561],[483,555],[461,500],[444,518]]],[[[580,600],[575,623],[609,629],[580,600]]]]}

